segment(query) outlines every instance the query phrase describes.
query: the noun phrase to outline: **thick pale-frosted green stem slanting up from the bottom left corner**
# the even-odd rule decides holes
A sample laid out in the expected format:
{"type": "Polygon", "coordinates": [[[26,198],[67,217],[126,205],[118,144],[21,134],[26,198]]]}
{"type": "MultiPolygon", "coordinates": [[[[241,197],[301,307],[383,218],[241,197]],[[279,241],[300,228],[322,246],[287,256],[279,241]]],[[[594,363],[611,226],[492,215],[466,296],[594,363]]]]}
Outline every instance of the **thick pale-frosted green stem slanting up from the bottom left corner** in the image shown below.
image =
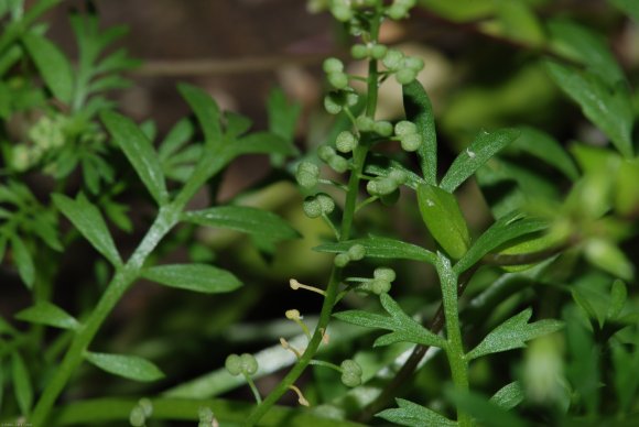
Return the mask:
{"type": "Polygon", "coordinates": [[[136,252],[133,252],[126,265],[118,269],[96,308],[77,331],[58,369],[37,401],[31,416],[31,423],[33,425],[45,425],[55,401],[66,386],[73,372],[80,364],[85,352],[100,326],[122,295],[136,282],[149,254],[177,223],[181,210],[182,206],[176,205],[169,205],[161,208],[155,222],[153,222],[136,252]]]}

